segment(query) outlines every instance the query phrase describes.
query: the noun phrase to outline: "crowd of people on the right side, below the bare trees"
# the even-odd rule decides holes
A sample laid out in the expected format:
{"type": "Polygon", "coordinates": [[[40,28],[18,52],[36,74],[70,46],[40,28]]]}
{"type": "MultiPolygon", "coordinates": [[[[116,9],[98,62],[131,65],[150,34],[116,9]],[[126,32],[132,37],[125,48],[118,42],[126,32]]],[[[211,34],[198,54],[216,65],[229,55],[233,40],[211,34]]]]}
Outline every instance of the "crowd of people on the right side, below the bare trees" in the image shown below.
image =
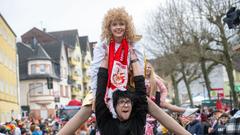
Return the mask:
{"type": "MultiPolygon", "coordinates": [[[[240,110],[217,110],[215,107],[201,107],[189,116],[169,113],[192,135],[236,135],[240,134],[240,110]],[[203,109],[204,108],[204,109],[203,109]]],[[[152,130],[145,135],[172,135],[166,127],[152,120],[152,130]],[[155,122],[155,123],[154,123],[155,122]]],[[[146,124],[148,126],[148,124],[146,124]]]]}

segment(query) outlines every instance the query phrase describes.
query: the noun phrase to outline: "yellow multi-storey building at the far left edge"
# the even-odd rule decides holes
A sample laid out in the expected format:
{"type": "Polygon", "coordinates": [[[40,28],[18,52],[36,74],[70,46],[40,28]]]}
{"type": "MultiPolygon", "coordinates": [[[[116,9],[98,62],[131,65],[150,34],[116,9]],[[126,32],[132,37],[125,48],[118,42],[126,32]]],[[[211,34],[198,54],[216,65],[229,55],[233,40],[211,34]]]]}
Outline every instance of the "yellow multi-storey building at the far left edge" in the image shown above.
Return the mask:
{"type": "Polygon", "coordinates": [[[0,14],[0,122],[20,114],[16,35],[0,14]]]}

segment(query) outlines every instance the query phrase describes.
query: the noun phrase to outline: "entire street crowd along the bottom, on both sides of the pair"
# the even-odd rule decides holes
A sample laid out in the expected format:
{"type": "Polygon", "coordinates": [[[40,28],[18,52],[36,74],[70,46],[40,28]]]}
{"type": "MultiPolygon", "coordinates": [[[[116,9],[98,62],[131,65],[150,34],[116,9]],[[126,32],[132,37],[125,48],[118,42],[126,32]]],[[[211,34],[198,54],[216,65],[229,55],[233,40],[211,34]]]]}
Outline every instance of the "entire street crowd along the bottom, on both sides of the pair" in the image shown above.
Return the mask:
{"type": "MultiPolygon", "coordinates": [[[[240,110],[217,110],[214,107],[201,107],[189,116],[168,111],[168,114],[192,135],[235,135],[240,134],[240,110]]],[[[12,120],[0,124],[0,135],[55,135],[63,125],[52,119],[35,124],[28,119],[12,120]]],[[[96,119],[89,118],[75,132],[75,135],[95,135],[96,119]]],[[[147,115],[144,135],[173,135],[156,119],[147,115]]]]}

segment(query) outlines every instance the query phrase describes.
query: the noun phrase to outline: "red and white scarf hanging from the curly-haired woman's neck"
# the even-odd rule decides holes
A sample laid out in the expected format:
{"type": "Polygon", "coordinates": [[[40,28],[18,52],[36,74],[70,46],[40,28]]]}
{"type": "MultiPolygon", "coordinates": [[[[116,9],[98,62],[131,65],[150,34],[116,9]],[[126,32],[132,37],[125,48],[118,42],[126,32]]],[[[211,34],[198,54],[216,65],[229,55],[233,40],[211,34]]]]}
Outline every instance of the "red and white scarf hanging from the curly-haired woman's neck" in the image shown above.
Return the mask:
{"type": "Polygon", "coordinates": [[[113,108],[112,94],[117,89],[125,91],[128,81],[128,42],[124,38],[115,52],[115,40],[112,38],[109,43],[108,57],[108,84],[105,93],[105,103],[116,118],[113,108]]]}

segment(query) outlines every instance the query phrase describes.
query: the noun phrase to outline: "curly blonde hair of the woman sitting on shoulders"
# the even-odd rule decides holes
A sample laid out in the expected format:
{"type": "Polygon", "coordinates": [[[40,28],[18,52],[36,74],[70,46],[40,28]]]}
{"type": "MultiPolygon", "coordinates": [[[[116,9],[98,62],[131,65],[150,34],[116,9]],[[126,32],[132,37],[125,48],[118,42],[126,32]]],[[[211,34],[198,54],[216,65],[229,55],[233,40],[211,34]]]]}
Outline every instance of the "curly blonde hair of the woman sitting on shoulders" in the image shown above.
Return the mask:
{"type": "Polygon", "coordinates": [[[110,41],[112,37],[112,33],[110,31],[110,24],[113,21],[124,21],[126,23],[126,31],[125,36],[126,39],[129,41],[134,41],[136,38],[135,33],[135,27],[132,21],[132,16],[130,16],[125,8],[112,8],[108,10],[106,15],[104,16],[104,20],[102,23],[102,34],[101,34],[101,40],[107,40],[107,42],[110,41]]]}

